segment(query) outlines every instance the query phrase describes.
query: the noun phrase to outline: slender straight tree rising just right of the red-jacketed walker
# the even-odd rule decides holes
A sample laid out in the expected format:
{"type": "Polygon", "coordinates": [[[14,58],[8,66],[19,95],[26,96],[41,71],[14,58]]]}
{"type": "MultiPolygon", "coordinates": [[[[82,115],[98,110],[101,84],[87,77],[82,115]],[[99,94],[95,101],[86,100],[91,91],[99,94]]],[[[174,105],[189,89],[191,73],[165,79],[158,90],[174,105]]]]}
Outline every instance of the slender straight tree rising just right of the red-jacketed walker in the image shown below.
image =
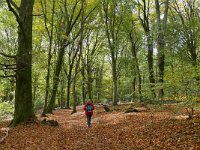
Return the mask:
{"type": "MultiPolygon", "coordinates": [[[[117,105],[118,98],[118,73],[117,73],[117,58],[118,58],[118,34],[121,26],[121,21],[116,21],[116,7],[117,1],[103,1],[103,10],[105,13],[105,30],[108,40],[108,45],[111,55],[111,67],[112,67],[112,86],[113,86],[113,105],[117,105]],[[113,3],[113,4],[112,4],[113,3]],[[110,4],[110,5],[109,5],[110,4]]],[[[121,18],[122,19],[122,18],[121,18]]]]}

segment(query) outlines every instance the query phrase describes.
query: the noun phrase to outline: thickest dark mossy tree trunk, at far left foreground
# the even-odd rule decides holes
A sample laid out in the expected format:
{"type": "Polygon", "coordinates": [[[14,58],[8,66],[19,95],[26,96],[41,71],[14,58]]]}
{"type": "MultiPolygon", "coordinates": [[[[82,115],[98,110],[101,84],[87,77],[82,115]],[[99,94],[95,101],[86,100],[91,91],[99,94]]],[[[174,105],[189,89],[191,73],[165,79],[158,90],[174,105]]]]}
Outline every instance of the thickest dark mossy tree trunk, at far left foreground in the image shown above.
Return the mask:
{"type": "Polygon", "coordinates": [[[19,24],[18,50],[16,57],[16,92],[14,118],[10,126],[34,121],[32,102],[32,22],[34,0],[21,0],[19,15],[6,0],[10,11],[19,24]]]}

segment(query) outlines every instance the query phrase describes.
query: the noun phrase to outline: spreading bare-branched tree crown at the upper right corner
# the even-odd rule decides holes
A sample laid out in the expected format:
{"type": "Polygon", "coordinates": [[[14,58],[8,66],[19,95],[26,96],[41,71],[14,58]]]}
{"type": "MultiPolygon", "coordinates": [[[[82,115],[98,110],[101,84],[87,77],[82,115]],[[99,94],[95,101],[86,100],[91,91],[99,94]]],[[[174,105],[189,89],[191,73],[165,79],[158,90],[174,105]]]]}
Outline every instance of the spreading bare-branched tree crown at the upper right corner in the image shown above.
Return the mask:
{"type": "Polygon", "coordinates": [[[176,21],[179,28],[174,28],[174,32],[179,34],[180,43],[183,46],[186,46],[186,56],[189,58],[189,61],[195,70],[196,80],[199,81],[200,75],[197,71],[199,64],[198,38],[200,35],[199,3],[197,0],[175,0],[172,3],[171,8],[172,13],[175,12],[175,14],[173,13],[173,17],[179,20],[178,22],[176,21]]]}

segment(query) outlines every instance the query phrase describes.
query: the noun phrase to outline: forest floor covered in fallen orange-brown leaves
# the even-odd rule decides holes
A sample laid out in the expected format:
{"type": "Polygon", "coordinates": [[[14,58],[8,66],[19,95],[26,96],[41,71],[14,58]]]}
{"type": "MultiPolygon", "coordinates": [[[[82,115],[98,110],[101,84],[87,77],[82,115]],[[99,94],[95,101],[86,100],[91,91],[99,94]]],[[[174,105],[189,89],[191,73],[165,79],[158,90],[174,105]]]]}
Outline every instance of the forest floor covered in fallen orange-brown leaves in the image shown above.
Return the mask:
{"type": "MultiPolygon", "coordinates": [[[[0,150],[158,150],[200,149],[200,112],[193,119],[177,116],[171,105],[165,108],[140,107],[124,113],[127,105],[105,112],[96,106],[92,126],[86,127],[83,106],[58,109],[48,119],[59,122],[52,127],[41,123],[19,125],[9,130],[0,150]]],[[[41,120],[43,118],[39,117],[41,120]]],[[[0,129],[9,121],[0,123],[0,129]]]]}

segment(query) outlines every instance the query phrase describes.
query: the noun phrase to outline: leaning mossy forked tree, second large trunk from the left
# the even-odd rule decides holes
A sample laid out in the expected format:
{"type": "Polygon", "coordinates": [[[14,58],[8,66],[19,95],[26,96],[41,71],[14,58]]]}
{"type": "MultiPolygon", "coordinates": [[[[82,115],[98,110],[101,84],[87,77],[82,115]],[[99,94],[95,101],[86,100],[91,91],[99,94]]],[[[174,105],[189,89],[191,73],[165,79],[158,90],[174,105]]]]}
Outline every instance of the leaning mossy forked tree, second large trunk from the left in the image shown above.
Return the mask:
{"type": "MultiPolygon", "coordinates": [[[[53,89],[51,92],[51,98],[47,106],[46,113],[53,113],[54,105],[55,105],[55,99],[56,99],[56,93],[57,93],[57,88],[58,88],[58,83],[59,83],[59,76],[60,72],[62,69],[62,64],[63,64],[63,57],[65,55],[65,49],[66,47],[71,43],[69,38],[70,34],[72,32],[72,29],[74,28],[75,24],[77,23],[78,19],[80,18],[81,15],[81,9],[78,7],[79,0],[76,0],[73,6],[69,8],[67,6],[67,1],[63,0],[60,4],[60,12],[61,15],[66,15],[66,17],[62,17],[60,20],[60,26],[59,26],[59,42],[60,42],[60,48],[58,50],[58,57],[56,61],[56,67],[54,71],[54,79],[53,79],[53,89]],[[75,11],[78,11],[78,13],[75,13],[75,11]]],[[[71,37],[72,41],[77,38],[80,32],[78,32],[74,37],[71,37]]]]}

